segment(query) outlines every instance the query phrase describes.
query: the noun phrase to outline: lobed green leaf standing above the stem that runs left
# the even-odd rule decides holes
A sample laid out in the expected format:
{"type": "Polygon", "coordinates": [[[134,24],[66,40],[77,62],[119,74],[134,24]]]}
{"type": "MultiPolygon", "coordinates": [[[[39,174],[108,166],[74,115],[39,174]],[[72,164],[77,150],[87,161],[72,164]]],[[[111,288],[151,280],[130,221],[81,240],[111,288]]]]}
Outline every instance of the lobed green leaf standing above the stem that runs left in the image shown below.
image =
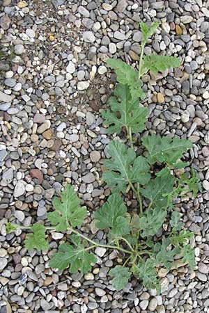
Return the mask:
{"type": "Polygon", "coordinates": [[[80,200],[70,184],[65,186],[61,192],[61,199],[54,198],[52,201],[54,212],[47,214],[52,225],[56,225],[56,230],[62,232],[67,229],[68,223],[72,227],[80,226],[86,216],[86,208],[79,207],[80,200]]]}

